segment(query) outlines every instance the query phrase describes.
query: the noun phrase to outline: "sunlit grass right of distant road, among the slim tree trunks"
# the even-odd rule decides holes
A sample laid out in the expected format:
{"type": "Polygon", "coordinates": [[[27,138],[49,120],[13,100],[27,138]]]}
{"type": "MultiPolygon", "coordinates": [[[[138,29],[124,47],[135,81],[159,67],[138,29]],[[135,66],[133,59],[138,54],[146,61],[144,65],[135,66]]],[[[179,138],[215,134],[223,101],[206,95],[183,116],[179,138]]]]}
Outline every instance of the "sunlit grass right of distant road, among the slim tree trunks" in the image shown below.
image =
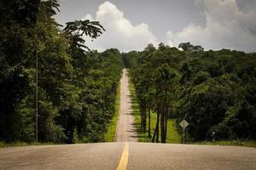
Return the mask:
{"type": "MultiPolygon", "coordinates": [[[[131,81],[129,81],[129,88],[130,88],[131,100],[132,100],[132,102],[131,102],[132,103],[132,114],[135,118],[138,141],[139,142],[151,142],[151,138],[148,137],[148,132],[143,133],[140,130],[141,129],[141,127],[140,127],[141,116],[140,116],[140,112],[139,112],[139,106],[137,104],[135,88],[131,81]]],[[[148,120],[147,120],[147,122],[148,122],[148,120]]],[[[151,129],[152,136],[154,133],[155,124],[156,124],[156,113],[151,112],[150,129],[151,129]]],[[[148,123],[147,123],[146,129],[148,129],[148,123]]],[[[177,133],[177,129],[176,129],[174,120],[168,120],[166,143],[179,144],[180,142],[181,142],[181,136],[177,133]]]]}

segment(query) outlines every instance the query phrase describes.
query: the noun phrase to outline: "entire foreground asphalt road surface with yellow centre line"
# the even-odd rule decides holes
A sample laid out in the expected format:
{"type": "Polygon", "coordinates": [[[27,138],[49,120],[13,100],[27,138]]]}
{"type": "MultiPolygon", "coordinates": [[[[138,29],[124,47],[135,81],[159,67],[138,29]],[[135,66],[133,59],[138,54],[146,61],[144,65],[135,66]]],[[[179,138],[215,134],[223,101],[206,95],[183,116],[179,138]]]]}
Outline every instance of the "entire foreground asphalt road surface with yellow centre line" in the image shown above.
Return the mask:
{"type": "Polygon", "coordinates": [[[256,149],[191,144],[99,143],[0,149],[0,169],[256,169],[256,149]],[[126,153],[123,150],[126,147],[126,153]],[[121,163],[122,161],[122,163],[121,163]]]}

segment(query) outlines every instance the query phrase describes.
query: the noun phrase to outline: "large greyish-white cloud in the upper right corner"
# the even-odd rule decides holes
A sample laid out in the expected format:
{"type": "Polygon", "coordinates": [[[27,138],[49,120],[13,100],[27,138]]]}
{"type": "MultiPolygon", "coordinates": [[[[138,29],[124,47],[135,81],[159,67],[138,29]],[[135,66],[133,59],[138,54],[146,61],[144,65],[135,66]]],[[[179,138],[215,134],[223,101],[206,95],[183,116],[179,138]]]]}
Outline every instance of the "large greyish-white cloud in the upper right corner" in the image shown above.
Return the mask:
{"type": "Polygon", "coordinates": [[[241,11],[236,0],[204,0],[202,3],[206,26],[195,26],[191,23],[182,31],[168,31],[167,43],[177,46],[180,42],[191,42],[207,49],[256,51],[256,8],[241,11]]]}

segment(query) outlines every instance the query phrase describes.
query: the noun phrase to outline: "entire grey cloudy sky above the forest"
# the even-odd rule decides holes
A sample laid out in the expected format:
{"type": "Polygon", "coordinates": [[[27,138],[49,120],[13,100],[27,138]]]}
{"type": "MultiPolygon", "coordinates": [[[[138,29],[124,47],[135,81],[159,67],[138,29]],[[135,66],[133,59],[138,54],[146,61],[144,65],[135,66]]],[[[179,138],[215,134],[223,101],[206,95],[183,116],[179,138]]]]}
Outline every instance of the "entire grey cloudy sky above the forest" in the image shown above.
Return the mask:
{"type": "Polygon", "coordinates": [[[143,50],[191,42],[206,49],[256,51],[255,0],[60,0],[55,19],[98,20],[106,31],[90,48],[143,50]]]}

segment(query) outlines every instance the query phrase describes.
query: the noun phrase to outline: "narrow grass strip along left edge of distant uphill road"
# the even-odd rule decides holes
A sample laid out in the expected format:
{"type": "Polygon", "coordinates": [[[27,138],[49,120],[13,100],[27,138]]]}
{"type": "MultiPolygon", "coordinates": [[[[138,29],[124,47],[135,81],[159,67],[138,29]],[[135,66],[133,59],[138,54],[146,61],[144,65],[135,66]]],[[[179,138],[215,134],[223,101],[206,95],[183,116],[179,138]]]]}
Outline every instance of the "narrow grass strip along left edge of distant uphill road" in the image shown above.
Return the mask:
{"type": "Polygon", "coordinates": [[[104,142],[114,141],[116,125],[119,118],[119,106],[120,106],[120,82],[117,88],[117,94],[115,96],[114,114],[111,122],[108,123],[107,132],[104,134],[104,142]]]}

